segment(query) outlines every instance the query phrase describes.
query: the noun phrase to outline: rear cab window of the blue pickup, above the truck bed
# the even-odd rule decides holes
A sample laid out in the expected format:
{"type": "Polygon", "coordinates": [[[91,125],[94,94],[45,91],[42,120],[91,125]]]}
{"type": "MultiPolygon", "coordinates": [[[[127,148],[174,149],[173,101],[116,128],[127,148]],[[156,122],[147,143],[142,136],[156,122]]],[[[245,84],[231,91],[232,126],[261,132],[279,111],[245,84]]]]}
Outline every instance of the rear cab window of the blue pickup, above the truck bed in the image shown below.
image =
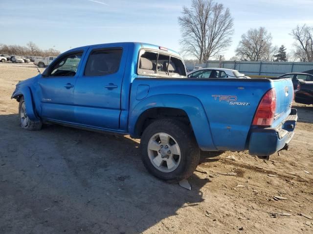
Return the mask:
{"type": "Polygon", "coordinates": [[[154,51],[141,50],[138,74],[185,78],[186,71],[183,62],[178,58],[154,51]]]}

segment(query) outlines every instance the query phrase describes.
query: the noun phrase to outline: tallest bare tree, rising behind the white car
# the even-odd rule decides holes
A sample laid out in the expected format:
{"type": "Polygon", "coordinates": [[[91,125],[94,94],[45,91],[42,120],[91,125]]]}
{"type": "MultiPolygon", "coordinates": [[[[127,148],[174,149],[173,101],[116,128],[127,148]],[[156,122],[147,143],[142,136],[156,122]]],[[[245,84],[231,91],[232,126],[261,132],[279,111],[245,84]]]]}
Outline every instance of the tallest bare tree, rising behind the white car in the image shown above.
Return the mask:
{"type": "Polygon", "coordinates": [[[182,40],[181,52],[205,62],[231,43],[233,18],[228,8],[213,0],[192,0],[191,8],[183,6],[178,18],[182,40]]]}

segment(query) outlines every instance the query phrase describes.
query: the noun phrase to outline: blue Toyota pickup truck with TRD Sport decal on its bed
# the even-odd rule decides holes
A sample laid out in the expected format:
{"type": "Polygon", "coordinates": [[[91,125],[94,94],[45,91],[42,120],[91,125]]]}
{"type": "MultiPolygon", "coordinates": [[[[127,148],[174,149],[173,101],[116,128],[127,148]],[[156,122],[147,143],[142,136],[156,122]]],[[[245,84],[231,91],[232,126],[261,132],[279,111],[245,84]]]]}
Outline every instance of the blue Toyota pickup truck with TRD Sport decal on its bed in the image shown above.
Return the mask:
{"type": "Polygon", "coordinates": [[[145,167],[179,181],[200,151],[244,151],[267,158],[294,134],[290,78],[187,78],[175,51],[121,42],[71,49],[16,85],[21,126],[45,123],[141,138],[145,167]]]}

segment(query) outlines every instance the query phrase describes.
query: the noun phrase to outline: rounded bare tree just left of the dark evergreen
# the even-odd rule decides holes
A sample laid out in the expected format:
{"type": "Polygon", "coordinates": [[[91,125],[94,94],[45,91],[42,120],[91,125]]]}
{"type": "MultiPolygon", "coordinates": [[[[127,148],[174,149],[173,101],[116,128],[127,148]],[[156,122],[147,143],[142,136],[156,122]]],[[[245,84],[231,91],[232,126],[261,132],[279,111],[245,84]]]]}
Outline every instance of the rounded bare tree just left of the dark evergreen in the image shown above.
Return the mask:
{"type": "Polygon", "coordinates": [[[264,27],[249,29],[241,36],[241,41],[236,49],[236,55],[241,59],[259,61],[269,58],[272,36],[264,27]]]}

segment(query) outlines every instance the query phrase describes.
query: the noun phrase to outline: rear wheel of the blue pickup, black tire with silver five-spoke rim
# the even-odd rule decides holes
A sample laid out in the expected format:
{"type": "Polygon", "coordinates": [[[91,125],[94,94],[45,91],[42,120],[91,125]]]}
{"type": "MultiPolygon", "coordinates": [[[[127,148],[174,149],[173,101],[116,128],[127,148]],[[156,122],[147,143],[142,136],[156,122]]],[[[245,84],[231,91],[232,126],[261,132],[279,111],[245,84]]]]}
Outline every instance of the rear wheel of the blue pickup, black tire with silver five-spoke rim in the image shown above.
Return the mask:
{"type": "Polygon", "coordinates": [[[151,123],[142,134],[140,148],[146,169],[169,183],[179,182],[191,176],[200,160],[200,149],[193,132],[187,125],[174,119],[159,119],[151,123]],[[164,140],[166,135],[169,140],[164,140]],[[165,144],[166,141],[169,143],[165,144]],[[166,146],[168,148],[165,149],[166,146]],[[167,151],[168,149],[180,155],[167,151]]]}

